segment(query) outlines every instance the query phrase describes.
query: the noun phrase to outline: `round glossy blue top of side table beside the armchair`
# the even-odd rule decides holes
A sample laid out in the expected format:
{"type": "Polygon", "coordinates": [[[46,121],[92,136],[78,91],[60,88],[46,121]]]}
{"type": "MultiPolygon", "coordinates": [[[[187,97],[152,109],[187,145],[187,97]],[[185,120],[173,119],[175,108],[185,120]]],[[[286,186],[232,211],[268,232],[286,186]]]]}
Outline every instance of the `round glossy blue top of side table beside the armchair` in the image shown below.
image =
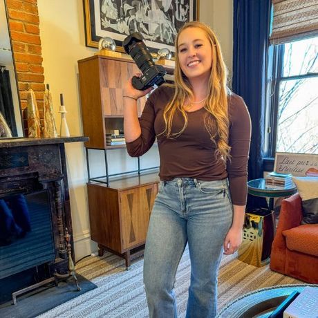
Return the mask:
{"type": "Polygon", "coordinates": [[[291,196],[297,192],[297,187],[287,185],[285,187],[272,187],[271,185],[265,185],[265,179],[254,179],[247,182],[247,191],[253,196],[266,196],[270,198],[291,196]]]}

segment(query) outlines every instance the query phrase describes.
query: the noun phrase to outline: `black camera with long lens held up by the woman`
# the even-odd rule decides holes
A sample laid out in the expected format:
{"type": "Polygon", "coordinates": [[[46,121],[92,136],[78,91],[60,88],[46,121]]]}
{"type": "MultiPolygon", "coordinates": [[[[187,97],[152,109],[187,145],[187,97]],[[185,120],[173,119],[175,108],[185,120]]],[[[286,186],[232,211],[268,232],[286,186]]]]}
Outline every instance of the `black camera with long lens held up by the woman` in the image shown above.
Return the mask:
{"type": "Polygon", "coordinates": [[[154,84],[160,86],[165,82],[163,78],[166,74],[165,68],[153,62],[153,58],[139,32],[131,33],[124,39],[122,46],[126,53],[133,58],[140,71],[142,71],[141,77],[134,76],[132,78],[134,88],[144,91],[154,84]]]}

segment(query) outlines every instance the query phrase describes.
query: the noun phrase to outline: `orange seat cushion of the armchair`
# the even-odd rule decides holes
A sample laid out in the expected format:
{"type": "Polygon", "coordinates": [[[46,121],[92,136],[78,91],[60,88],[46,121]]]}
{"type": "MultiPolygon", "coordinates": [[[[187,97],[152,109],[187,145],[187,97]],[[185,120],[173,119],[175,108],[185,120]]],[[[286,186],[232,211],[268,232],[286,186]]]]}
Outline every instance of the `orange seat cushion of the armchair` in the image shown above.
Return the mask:
{"type": "Polygon", "coordinates": [[[318,256],[318,224],[306,224],[282,232],[288,250],[318,256]]]}

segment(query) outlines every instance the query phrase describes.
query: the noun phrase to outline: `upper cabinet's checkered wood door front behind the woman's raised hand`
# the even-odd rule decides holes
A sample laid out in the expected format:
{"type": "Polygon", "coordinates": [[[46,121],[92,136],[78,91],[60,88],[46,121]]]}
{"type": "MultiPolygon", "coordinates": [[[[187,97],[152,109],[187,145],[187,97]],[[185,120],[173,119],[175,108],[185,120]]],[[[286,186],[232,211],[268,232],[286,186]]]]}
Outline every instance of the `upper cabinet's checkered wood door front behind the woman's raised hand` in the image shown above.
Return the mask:
{"type": "MultiPolygon", "coordinates": [[[[140,73],[134,62],[114,59],[100,60],[100,92],[103,114],[105,116],[123,116],[124,86],[135,73],[140,73]]],[[[138,100],[138,115],[144,108],[145,97],[138,100]]]]}

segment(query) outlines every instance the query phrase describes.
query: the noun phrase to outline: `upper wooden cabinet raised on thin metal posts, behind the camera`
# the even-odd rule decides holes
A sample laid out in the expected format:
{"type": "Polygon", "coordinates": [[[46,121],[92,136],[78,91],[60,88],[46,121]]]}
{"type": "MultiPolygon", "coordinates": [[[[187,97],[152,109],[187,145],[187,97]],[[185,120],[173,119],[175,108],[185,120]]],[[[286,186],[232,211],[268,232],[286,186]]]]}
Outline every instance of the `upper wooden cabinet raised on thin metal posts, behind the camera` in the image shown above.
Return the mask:
{"type": "MultiPolygon", "coordinates": [[[[94,55],[78,61],[85,147],[104,149],[106,133],[123,128],[124,85],[140,73],[132,59],[94,55]]],[[[138,115],[145,97],[138,100],[138,115]]]]}

